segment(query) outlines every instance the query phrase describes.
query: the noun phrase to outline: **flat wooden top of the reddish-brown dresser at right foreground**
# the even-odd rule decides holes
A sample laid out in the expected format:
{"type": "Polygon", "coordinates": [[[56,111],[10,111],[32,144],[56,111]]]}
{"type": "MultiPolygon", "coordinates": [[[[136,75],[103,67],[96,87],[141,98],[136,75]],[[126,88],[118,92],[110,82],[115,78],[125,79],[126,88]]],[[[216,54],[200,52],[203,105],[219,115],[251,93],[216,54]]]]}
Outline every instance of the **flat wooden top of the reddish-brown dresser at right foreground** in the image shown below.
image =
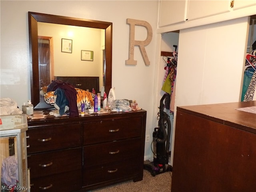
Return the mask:
{"type": "Polygon", "coordinates": [[[250,106],[256,106],[256,101],[178,106],[177,113],[187,112],[256,134],[256,113],[237,110],[250,106]]]}

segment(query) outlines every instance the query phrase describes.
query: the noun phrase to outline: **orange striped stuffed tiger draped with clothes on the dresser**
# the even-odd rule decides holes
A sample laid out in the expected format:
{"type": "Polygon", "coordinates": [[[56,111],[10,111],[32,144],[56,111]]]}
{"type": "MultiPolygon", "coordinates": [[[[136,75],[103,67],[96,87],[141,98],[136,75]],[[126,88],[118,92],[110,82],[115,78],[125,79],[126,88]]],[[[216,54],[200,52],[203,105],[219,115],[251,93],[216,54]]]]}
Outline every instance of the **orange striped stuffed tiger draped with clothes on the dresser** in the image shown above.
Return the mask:
{"type": "MultiPolygon", "coordinates": [[[[47,92],[47,88],[48,86],[41,87],[40,95],[44,96],[44,101],[47,104],[53,105],[56,109],[55,112],[50,112],[50,115],[63,115],[67,110],[69,110],[68,100],[64,96],[64,90],[57,88],[55,91],[47,92]]],[[[75,88],[75,90],[77,107],[80,108],[82,103],[84,103],[85,108],[93,108],[95,94],[79,88],[75,88]]]]}

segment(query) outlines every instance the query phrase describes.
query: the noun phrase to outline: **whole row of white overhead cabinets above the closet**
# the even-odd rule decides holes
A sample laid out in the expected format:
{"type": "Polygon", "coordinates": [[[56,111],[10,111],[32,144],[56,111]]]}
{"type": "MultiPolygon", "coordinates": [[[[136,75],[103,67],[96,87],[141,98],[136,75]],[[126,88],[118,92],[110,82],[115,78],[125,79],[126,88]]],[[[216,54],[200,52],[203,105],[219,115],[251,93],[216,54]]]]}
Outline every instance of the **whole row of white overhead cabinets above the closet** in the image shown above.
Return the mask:
{"type": "Polygon", "coordinates": [[[256,0],[160,0],[158,27],[180,30],[241,18],[254,15],[253,6],[256,0]]]}

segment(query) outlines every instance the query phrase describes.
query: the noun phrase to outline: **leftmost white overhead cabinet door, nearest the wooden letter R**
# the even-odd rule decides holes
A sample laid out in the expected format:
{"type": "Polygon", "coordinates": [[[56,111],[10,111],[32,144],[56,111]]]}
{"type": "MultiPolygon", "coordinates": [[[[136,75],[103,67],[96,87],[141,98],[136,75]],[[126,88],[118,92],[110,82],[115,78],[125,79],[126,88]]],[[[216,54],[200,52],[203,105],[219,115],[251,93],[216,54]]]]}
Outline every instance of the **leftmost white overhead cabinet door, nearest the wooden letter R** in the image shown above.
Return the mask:
{"type": "Polygon", "coordinates": [[[159,27],[186,21],[188,0],[160,0],[159,27]]]}

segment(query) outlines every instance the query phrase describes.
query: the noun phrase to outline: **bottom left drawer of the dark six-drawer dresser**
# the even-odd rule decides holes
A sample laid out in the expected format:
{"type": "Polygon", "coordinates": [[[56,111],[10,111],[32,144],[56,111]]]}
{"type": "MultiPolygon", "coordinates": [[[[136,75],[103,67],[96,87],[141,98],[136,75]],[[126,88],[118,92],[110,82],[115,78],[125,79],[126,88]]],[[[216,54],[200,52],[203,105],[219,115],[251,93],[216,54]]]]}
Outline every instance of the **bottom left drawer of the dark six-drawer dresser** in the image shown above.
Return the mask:
{"type": "Polygon", "coordinates": [[[31,192],[70,192],[80,190],[82,171],[76,170],[31,179],[31,192]]]}

